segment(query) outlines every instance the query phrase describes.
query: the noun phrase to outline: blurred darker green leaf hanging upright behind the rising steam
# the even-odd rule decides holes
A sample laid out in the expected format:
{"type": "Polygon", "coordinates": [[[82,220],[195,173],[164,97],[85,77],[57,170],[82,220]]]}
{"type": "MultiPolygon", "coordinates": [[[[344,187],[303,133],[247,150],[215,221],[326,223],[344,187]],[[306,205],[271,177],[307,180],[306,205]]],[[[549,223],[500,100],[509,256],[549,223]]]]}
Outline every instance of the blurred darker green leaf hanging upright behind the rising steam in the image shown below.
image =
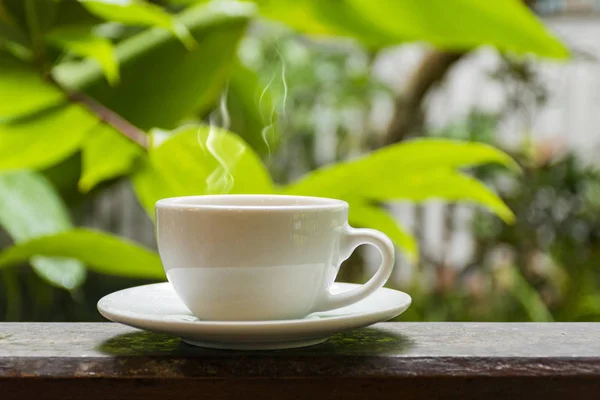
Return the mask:
{"type": "Polygon", "coordinates": [[[275,105],[256,73],[236,63],[228,89],[231,131],[240,135],[261,155],[274,151],[277,145],[275,105]]]}

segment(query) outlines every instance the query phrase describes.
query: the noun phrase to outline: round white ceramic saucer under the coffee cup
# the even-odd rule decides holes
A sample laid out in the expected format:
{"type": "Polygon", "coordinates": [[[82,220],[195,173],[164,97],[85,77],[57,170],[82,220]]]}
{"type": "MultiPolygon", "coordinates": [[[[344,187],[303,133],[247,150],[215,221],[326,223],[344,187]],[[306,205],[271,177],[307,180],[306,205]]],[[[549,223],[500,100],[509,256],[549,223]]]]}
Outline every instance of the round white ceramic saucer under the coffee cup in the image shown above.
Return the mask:
{"type": "MultiPolygon", "coordinates": [[[[358,285],[334,283],[340,293],[358,285]]],[[[168,282],[109,294],[98,302],[104,317],[135,328],[181,337],[216,349],[269,350],[310,346],[329,336],[392,319],[411,303],[408,294],[382,288],[351,306],[284,321],[202,321],[179,300],[168,282]]]]}

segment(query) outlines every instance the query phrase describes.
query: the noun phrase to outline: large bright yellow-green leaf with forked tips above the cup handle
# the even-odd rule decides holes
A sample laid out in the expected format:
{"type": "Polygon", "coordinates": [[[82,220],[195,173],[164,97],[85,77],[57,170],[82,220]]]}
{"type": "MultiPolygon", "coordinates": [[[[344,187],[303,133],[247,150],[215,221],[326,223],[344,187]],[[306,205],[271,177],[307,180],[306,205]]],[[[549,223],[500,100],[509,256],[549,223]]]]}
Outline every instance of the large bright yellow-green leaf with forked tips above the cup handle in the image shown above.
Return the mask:
{"type": "Polygon", "coordinates": [[[429,199],[472,201],[507,222],[513,213],[492,191],[456,171],[487,163],[517,169],[506,153],[491,146],[420,139],[388,146],[357,160],[316,170],[284,187],[285,193],[377,201],[429,199]]]}

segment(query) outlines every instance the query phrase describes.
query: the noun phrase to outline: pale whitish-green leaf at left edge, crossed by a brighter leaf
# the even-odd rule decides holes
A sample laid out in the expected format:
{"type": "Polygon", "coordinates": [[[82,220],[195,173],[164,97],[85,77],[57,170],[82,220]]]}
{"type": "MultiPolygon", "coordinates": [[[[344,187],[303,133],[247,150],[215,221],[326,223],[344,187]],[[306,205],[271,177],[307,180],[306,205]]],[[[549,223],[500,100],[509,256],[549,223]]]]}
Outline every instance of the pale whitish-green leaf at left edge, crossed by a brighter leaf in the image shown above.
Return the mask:
{"type": "MultiPolygon", "coordinates": [[[[0,225],[17,243],[71,228],[65,205],[40,174],[14,171],[0,174],[0,225]]],[[[32,257],[31,265],[55,286],[74,289],[85,280],[81,262],[69,258],[32,257]]]]}

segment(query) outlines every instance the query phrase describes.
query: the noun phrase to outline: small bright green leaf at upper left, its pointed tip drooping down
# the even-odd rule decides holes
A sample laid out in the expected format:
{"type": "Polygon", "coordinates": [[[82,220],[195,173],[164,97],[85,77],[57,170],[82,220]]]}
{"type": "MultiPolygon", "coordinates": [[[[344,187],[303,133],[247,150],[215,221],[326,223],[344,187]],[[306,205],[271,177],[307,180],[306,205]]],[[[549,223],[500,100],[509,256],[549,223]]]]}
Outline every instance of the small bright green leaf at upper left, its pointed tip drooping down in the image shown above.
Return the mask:
{"type": "Polygon", "coordinates": [[[46,39],[73,54],[96,60],[111,85],[119,82],[119,61],[112,42],[94,35],[89,27],[63,26],[49,32],[46,39]]]}

